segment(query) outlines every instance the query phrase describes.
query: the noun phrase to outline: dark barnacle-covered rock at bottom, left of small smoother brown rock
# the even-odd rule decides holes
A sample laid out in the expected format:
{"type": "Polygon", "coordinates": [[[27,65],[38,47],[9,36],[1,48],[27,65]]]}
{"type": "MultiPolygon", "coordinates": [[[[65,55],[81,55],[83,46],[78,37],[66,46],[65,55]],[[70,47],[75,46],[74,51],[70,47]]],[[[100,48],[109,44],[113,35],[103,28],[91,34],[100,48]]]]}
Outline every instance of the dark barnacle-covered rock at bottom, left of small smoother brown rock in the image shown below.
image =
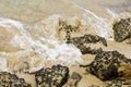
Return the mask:
{"type": "Polygon", "coordinates": [[[37,87],[62,87],[69,76],[69,69],[62,65],[53,65],[51,69],[43,69],[35,73],[37,87]]]}

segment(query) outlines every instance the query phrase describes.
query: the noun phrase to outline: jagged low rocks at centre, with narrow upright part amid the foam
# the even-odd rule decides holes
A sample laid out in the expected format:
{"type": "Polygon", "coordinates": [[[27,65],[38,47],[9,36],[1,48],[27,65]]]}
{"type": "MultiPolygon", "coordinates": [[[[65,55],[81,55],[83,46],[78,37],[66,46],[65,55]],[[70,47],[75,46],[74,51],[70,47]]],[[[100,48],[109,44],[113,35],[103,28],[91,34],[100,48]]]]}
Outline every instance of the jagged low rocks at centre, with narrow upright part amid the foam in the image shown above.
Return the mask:
{"type": "Polygon", "coordinates": [[[76,28],[79,27],[73,27],[71,25],[68,25],[64,21],[59,22],[59,27],[58,30],[64,30],[66,32],[66,42],[67,44],[73,44],[76,48],[81,50],[83,54],[91,53],[91,54],[96,54],[97,51],[100,50],[98,49],[92,49],[91,47],[86,47],[87,44],[97,44],[102,42],[105,47],[107,47],[107,41],[104,37],[97,36],[97,35],[91,35],[91,34],[85,34],[84,36],[81,37],[71,37],[72,32],[76,32],[76,28]]]}

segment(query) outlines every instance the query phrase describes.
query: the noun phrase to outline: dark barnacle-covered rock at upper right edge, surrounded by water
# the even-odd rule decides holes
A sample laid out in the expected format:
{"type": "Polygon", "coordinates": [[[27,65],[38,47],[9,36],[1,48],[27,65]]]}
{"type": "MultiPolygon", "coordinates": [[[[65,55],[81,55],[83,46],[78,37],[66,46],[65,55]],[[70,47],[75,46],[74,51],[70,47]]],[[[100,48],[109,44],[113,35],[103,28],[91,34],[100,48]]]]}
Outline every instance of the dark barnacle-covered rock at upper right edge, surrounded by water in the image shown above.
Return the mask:
{"type": "Polygon", "coordinates": [[[122,18],[120,22],[115,23],[112,29],[116,41],[121,42],[131,37],[131,17],[122,18]]]}

